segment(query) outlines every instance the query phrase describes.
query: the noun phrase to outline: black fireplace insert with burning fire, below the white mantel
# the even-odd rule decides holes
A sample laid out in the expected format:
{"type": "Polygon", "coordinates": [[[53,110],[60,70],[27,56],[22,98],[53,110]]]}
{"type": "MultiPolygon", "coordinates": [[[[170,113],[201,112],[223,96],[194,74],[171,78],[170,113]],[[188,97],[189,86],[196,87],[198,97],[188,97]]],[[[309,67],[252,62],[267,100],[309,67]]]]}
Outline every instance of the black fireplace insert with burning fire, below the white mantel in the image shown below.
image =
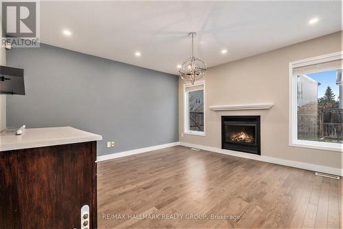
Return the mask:
{"type": "Polygon", "coordinates": [[[260,116],[222,116],[222,149],[261,155],[260,116]]]}

